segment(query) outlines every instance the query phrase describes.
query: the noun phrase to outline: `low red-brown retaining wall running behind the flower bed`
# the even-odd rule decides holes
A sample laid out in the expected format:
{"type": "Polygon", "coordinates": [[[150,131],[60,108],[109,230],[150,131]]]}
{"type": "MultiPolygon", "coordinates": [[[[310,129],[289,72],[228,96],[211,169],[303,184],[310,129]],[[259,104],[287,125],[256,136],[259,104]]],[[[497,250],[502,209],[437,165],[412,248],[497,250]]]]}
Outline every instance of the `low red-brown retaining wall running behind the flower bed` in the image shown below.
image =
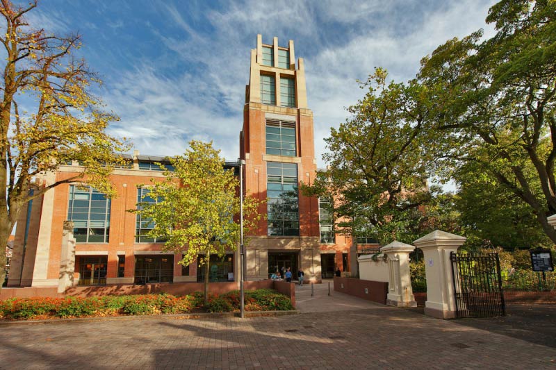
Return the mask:
{"type": "MultiPolygon", "coordinates": [[[[277,292],[290,297],[293,307],[295,307],[295,286],[293,283],[285,281],[261,280],[261,281],[245,281],[245,290],[255,289],[275,289],[277,292]]],[[[210,294],[224,294],[231,290],[237,290],[238,283],[208,283],[208,292],[210,294]]],[[[159,294],[167,293],[174,296],[184,296],[193,292],[203,292],[204,283],[163,283],[163,284],[145,284],[145,285],[94,285],[87,287],[71,287],[65,293],[58,293],[57,287],[22,287],[22,288],[2,288],[0,292],[0,301],[8,298],[31,298],[31,297],[49,297],[63,298],[65,296],[123,296],[129,294],[159,294]]]]}

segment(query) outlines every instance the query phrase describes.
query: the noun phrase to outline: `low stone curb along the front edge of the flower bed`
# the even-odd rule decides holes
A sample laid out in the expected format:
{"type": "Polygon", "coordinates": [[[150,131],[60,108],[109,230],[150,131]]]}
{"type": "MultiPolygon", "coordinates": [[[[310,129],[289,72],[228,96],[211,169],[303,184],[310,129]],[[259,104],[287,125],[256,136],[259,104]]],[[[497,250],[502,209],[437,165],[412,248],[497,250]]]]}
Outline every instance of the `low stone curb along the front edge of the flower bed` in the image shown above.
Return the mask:
{"type": "MultiPolygon", "coordinates": [[[[288,311],[249,311],[245,312],[244,317],[274,317],[289,314],[300,314],[297,310],[288,311]]],[[[68,322],[90,322],[90,321],[126,321],[126,320],[188,320],[215,317],[237,317],[240,312],[200,312],[196,314],[151,314],[151,315],[120,315],[107,317],[75,317],[72,319],[48,319],[48,320],[8,320],[0,319],[0,326],[7,325],[38,325],[45,323],[68,323],[68,322]]]]}

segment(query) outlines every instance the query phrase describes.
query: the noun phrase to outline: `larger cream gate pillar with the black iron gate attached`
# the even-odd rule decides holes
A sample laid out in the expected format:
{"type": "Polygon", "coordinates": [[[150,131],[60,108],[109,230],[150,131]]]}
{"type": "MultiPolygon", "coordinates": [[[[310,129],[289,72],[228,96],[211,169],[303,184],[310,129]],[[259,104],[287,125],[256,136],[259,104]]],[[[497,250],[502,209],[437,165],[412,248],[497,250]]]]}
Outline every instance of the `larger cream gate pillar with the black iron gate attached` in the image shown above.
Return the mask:
{"type": "Polygon", "coordinates": [[[425,314],[439,319],[452,319],[456,316],[450,253],[457,252],[465,240],[465,237],[435,230],[413,242],[425,255],[425,314]]]}

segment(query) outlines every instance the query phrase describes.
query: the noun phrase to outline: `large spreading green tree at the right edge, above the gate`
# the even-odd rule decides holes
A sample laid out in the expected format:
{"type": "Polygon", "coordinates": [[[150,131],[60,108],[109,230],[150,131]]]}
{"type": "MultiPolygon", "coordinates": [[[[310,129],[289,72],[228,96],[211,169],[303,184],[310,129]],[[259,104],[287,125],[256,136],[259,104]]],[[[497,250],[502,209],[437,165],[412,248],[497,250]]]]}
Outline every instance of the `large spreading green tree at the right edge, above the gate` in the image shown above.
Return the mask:
{"type": "Polygon", "coordinates": [[[502,0],[486,18],[496,35],[449,40],[423,59],[418,76],[450,144],[444,176],[457,180],[473,163],[506,203],[527,204],[553,242],[546,218],[556,213],[555,20],[555,1],[502,0]]]}

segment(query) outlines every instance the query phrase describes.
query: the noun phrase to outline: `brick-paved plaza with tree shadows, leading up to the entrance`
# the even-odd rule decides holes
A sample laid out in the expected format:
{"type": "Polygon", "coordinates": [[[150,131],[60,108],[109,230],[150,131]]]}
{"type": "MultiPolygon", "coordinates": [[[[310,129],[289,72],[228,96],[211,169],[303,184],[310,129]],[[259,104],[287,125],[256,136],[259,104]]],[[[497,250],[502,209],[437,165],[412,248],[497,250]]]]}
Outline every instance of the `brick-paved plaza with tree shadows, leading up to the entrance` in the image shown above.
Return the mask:
{"type": "Polygon", "coordinates": [[[326,283],[296,295],[301,313],[282,316],[1,324],[0,369],[556,369],[556,345],[328,296],[326,283]]]}

